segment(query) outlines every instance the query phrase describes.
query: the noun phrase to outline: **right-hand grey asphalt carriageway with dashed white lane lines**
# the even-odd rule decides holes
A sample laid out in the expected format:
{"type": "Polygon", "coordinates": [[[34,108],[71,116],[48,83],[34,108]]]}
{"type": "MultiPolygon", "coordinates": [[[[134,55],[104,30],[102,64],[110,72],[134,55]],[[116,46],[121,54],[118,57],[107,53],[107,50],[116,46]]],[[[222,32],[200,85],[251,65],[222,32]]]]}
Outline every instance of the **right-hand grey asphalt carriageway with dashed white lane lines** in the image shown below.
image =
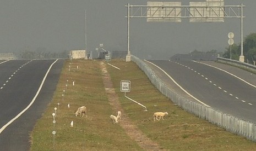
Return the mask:
{"type": "Polygon", "coordinates": [[[148,61],[151,63],[146,63],[158,76],[182,96],[186,96],[189,100],[197,98],[218,111],[256,123],[255,74],[214,61],[148,61]],[[173,86],[175,83],[159,68],[181,87],[173,86]],[[188,93],[185,94],[181,89],[188,93]]]}

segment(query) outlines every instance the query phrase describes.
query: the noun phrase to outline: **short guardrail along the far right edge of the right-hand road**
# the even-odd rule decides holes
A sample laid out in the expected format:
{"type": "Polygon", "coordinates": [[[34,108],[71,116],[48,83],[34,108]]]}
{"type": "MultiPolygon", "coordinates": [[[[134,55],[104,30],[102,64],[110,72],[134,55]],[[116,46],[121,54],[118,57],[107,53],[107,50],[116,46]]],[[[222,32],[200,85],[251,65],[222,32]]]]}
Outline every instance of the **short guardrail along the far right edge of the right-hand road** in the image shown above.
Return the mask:
{"type": "Polygon", "coordinates": [[[236,66],[236,67],[239,67],[239,68],[246,68],[248,71],[256,72],[256,66],[251,65],[251,64],[246,63],[246,62],[240,62],[240,61],[237,61],[237,60],[226,59],[224,57],[217,57],[217,61],[221,62],[221,63],[226,63],[226,64],[231,65],[231,66],[236,66]]]}

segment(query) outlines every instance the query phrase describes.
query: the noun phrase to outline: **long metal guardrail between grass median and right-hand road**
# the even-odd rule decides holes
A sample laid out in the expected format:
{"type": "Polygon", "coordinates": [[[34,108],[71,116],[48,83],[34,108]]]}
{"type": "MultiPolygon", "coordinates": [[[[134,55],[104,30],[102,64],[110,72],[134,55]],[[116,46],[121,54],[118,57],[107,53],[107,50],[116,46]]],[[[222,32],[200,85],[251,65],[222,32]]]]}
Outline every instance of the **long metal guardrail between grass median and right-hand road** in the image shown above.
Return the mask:
{"type": "Polygon", "coordinates": [[[185,111],[195,114],[201,119],[208,120],[210,123],[217,126],[224,127],[227,131],[244,136],[248,140],[256,141],[256,125],[254,123],[244,121],[221,111],[216,111],[215,109],[206,107],[203,104],[187,100],[169,89],[144,61],[141,61],[134,55],[131,55],[131,60],[135,62],[142,71],[145,72],[151,83],[163,95],[170,98],[173,103],[176,103],[185,111]]]}

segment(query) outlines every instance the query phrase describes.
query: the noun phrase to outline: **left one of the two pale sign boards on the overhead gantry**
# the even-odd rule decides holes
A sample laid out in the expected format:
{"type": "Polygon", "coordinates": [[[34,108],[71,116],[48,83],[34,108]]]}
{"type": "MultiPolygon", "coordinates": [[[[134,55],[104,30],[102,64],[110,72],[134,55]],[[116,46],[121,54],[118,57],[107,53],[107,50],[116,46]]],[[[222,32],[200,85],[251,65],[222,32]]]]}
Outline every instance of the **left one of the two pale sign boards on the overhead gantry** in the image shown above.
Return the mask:
{"type": "Polygon", "coordinates": [[[181,22],[181,2],[147,2],[147,5],[150,7],[146,15],[152,17],[147,18],[147,22],[181,22]],[[174,18],[165,18],[167,16],[174,18]]]}

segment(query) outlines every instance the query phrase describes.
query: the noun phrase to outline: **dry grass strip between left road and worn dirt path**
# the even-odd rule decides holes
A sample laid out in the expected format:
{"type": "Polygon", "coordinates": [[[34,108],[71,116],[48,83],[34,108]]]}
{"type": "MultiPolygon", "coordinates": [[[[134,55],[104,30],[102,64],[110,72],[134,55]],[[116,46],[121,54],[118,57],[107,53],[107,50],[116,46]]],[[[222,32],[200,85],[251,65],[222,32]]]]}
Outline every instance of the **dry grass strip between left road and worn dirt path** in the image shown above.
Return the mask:
{"type": "Polygon", "coordinates": [[[110,115],[116,111],[112,111],[108,102],[99,61],[73,60],[68,72],[69,63],[65,62],[52,102],[31,133],[30,150],[141,150],[121,126],[110,121],[110,115]],[[87,107],[88,118],[75,117],[74,112],[80,106],[87,107]],[[70,127],[72,120],[74,127],[70,127]]]}

